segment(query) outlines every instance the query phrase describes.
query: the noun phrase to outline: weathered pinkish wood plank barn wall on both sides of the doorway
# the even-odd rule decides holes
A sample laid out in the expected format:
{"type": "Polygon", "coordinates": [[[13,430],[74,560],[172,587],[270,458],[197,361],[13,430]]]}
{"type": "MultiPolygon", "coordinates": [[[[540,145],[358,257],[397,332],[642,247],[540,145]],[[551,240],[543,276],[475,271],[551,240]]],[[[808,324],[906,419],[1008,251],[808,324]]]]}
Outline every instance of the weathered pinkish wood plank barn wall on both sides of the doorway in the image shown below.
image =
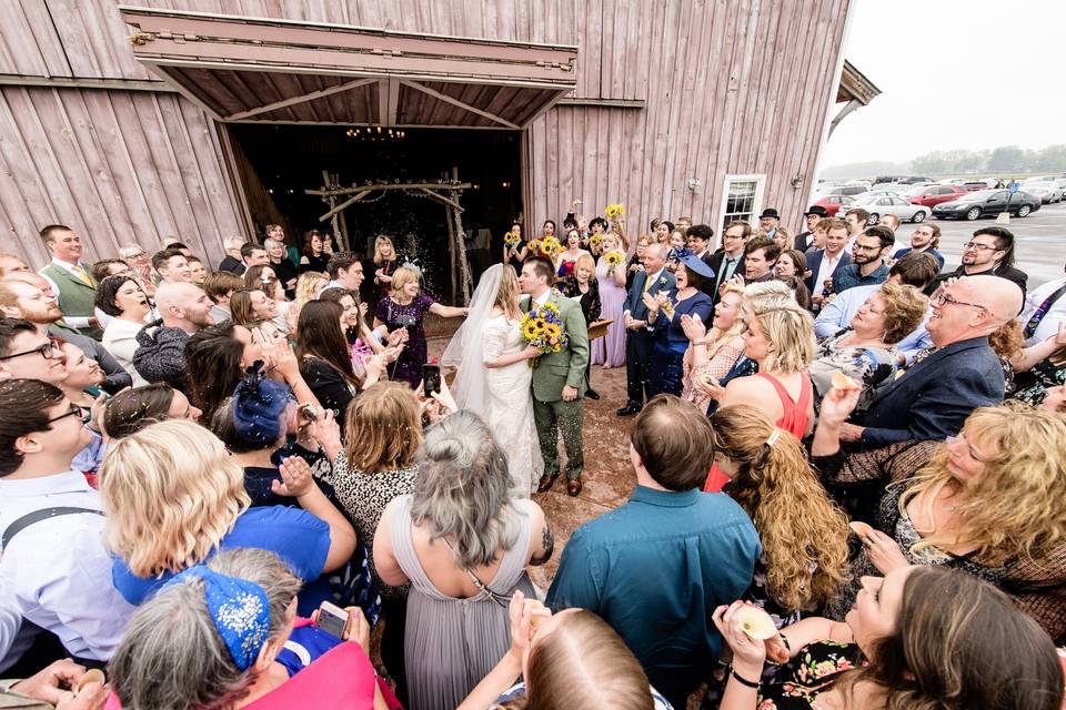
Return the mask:
{"type": "MultiPolygon", "coordinates": [[[[137,0],[159,9],[576,44],[577,89],[526,130],[535,223],[570,201],[630,224],[717,225],[726,175],[798,221],[835,95],[849,0],[137,0]]],[[[214,122],[132,55],[112,0],[0,2],[0,250],[88,257],[175,235],[214,261],[248,229],[214,122]],[[198,248],[199,247],[199,248],[198,248]]],[[[632,227],[631,227],[632,229],[632,227]]]]}

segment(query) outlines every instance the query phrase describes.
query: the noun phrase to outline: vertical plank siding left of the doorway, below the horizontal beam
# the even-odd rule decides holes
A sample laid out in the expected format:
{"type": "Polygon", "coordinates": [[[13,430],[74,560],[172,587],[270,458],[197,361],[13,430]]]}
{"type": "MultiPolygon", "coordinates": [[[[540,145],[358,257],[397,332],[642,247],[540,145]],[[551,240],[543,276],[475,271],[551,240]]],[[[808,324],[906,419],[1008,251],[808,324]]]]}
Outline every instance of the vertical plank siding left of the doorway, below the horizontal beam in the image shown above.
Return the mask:
{"type": "Polygon", "coordinates": [[[0,251],[43,266],[38,230],[61,222],[88,261],[175,236],[214,263],[237,204],[214,126],[177,94],[0,87],[0,251]]]}

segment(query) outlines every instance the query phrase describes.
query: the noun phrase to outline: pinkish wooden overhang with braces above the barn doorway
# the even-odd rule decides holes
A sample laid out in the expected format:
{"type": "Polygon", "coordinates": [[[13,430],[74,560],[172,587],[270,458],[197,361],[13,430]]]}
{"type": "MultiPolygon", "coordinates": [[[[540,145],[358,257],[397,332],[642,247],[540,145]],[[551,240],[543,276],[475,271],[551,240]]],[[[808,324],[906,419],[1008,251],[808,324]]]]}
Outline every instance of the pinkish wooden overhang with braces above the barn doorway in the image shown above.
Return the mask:
{"type": "Polygon", "coordinates": [[[522,129],[577,48],[120,6],[133,54],[223,122],[522,129]]]}

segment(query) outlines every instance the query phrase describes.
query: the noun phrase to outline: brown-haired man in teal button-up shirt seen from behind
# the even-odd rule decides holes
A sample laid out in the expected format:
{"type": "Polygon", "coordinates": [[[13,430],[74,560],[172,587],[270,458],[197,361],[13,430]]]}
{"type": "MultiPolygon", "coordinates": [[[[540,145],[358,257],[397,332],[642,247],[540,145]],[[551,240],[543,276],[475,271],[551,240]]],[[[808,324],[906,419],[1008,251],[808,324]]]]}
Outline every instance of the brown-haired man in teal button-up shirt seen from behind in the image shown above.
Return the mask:
{"type": "Polygon", "coordinates": [[[574,532],[547,605],[600,615],[652,686],[684,708],[722,649],[711,615],[751,585],[762,546],[736,503],[700,490],[714,448],[694,406],[655,397],[633,425],[630,457],[636,490],[574,532]]]}

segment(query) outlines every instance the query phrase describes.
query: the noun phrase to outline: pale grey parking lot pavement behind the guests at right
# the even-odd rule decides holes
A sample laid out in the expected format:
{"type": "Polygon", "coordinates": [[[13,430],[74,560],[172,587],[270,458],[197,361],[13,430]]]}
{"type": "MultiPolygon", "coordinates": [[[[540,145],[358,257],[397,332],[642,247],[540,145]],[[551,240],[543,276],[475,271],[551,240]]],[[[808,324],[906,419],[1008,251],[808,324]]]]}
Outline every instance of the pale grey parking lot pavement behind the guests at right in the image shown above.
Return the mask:
{"type": "MultiPolygon", "coordinates": [[[[941,253],[947,260],[945,268],[958,266],[963,244],[969,241],[974,230],[995,224],[995,217],[982,217],[976,222],[965,220],[933,220],[941,227],[941,253]]],[[[908,241],[913,224],[899,226],[901,241],[908,241]]],[[[1027,217],[1010,217],[1007,225],[1014,232],[1015,266],[1029,275],[1032,290],[1063,275],[1066,262],[1066,202],[1045,204],[1027,217]]]]}

